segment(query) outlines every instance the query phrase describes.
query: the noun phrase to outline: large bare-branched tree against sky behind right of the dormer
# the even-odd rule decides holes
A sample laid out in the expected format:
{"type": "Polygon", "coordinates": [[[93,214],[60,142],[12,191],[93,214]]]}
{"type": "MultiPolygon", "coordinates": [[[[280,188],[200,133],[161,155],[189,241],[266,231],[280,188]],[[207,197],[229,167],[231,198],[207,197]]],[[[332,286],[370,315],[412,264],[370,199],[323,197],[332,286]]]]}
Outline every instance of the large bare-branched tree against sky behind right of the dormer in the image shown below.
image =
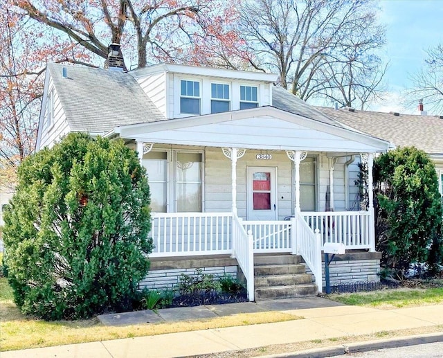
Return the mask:
{"type": "Polygon", "coordinates": [[[372,0],[246,1],[240,33],[255,53],[251,65],[279,73],[285,89],[303,100],[320,96],[351,105],[370,99],[359,89],[376,93],[380,82],[374,73],[385,30],[374,8],[372,0]]]}

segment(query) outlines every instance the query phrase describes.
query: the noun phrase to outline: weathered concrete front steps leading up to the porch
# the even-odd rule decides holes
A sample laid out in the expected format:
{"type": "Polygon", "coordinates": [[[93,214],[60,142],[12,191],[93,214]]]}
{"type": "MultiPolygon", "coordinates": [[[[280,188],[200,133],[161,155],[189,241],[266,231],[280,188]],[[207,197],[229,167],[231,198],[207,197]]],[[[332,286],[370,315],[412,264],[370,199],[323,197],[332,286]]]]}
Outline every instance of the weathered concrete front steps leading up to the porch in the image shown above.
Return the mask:
{"type": "Polygon", "coordinates": [[[255,256],[255,300],[315,296],[318,289],[300,261],[295,255],[255,256]]]}

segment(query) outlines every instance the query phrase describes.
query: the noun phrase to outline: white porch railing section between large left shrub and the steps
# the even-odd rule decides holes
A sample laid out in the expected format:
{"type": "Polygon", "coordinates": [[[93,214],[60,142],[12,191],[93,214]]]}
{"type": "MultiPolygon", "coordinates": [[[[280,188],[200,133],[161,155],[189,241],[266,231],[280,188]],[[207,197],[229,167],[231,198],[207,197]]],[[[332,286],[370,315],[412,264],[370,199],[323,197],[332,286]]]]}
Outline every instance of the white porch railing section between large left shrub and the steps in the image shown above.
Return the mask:
{"type": "Polygon", "coordinates": [[[151,257],[231,254],[232,213],[154,213],[151,257]]]}

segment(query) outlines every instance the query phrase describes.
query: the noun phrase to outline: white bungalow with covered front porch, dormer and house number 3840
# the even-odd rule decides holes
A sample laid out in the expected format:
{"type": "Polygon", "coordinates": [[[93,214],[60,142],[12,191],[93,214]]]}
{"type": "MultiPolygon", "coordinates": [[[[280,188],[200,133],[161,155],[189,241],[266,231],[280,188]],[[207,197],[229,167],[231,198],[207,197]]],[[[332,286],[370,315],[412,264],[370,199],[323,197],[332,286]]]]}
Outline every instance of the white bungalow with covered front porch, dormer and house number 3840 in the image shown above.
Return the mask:
{"type": "Polygon", "coordinates": [[[332,283],[378,279],[374,208],[356,200],[352,163],[368,161],[372,195],[373,156],[388,141],[275,87],[271,73],[178,64],[125,72],[112,56],[109,69],[48,64],[37,150],[89,132],[138,152],[155,245],[141,287],[203,269],[244,278],[251,301],[316,294],[328,242],[346,250],[332,283]]]}

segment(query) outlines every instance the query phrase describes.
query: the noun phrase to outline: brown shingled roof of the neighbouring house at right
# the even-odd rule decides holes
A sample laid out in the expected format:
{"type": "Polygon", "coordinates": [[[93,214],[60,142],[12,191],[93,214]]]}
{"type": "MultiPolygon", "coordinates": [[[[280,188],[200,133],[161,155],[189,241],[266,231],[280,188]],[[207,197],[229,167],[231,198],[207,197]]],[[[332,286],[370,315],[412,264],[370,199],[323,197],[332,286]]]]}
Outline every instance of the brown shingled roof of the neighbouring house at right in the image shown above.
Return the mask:
{"type": "Polygon", "coordinates": [[[396,147],[414,145],[428,154],[443,154],[443,119],[440,117],[316,108],[343,125],[390,141],[396,147]]]}

